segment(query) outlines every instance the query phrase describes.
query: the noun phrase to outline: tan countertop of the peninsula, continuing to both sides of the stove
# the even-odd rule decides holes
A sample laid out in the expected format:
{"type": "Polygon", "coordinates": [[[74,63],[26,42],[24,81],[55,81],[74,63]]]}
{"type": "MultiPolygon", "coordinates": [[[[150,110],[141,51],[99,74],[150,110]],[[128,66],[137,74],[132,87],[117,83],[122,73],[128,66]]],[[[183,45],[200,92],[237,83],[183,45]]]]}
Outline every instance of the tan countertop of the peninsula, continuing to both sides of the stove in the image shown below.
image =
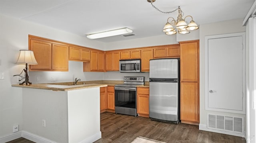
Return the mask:
{"type": "MultiPolygon", "coordinates": [[[[79,81],[77,85],[74,82],[56,82],[56,83],[46,83],[46,84],[30,84],[30,85],[20,85],[14,84],[13,87],[22,88],[36,88],[36,89],[46,89],[54,91],[70,91],[78,90],[84,88],[95,88],[95,87],[106,87],[115,86],[116,84],[123,84],[122,80],[95,80],[95,81],[79,81]]],[[[149,82],[145,82],[144,85],[138,85],[137,87],[149,87],[149,82]]]]}

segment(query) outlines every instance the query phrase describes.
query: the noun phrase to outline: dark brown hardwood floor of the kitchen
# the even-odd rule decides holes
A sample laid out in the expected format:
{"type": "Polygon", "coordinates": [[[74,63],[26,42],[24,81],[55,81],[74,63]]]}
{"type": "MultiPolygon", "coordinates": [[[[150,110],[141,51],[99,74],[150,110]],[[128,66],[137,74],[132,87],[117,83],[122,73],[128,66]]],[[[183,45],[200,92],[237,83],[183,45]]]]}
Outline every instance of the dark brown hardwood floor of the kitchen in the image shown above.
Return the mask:
{"type": "MultiPolygon", "coordinates": [[[[100,125],[102,138],[94,143],[130,143],[138,136],[166,143],[246,143],[242,137],[201,131],[197,125],[176,125],[110,112],[100,114],[100,125]]],[[[34,142],[19,138],[8,143],[34,142]]]]}

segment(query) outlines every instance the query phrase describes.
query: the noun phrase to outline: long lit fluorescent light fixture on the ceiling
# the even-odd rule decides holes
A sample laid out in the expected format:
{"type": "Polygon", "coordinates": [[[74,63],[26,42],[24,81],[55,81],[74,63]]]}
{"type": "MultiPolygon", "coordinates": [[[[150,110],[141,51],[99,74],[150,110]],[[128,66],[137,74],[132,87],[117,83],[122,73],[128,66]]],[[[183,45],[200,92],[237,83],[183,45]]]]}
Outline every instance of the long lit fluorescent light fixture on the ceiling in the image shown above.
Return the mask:
{"type": "Polygon", "coordinates": [[[110,37],[110,36],[122,35],[122,34],[128,34],[128,33],[132,33],[132,30],[129,28],[122,28],[122,29],[115,29],[115,30],[110,30],[110,31],[105,31],[100,33],[89,34],[86,37],[89,39],[98,39],[98,38],[110,37]]]}

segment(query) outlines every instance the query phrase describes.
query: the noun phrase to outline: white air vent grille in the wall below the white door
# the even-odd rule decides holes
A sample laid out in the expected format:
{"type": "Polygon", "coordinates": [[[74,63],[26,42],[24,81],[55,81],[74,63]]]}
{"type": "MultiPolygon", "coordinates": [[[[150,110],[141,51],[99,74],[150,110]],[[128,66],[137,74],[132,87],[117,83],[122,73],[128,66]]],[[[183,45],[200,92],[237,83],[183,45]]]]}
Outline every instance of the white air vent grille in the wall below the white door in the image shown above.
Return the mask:
{"type": "Polygon", "coordinates": [[[244,134],[244,118],[208,114],[207,128],[244,134]]]}

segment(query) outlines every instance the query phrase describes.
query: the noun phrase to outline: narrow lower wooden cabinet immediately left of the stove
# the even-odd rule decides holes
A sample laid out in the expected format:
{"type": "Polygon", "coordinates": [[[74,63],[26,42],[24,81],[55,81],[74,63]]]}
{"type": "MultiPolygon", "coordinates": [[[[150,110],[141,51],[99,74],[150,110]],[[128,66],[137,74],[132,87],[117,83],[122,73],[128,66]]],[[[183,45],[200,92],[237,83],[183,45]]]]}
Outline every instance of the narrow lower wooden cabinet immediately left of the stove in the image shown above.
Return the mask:
{"type": "Polygon", "coordinates": [[[107,111],[115,112],[115,90],[114,86],[108,86],[107,111]]]}

